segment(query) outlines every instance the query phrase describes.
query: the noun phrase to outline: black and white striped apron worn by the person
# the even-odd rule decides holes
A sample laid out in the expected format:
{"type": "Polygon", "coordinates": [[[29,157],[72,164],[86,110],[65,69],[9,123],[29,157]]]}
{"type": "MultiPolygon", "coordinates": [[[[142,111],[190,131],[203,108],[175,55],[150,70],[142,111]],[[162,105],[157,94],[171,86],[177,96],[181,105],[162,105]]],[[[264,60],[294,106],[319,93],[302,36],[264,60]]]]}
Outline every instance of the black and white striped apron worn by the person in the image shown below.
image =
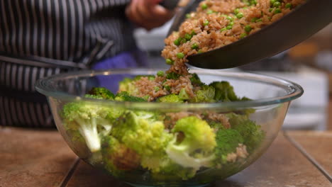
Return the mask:
{"type": "Polygon", "coordinates": [[[0,0],[0,125],[53,128],[35,81],[133,50],[130,0],[0,0]]]}

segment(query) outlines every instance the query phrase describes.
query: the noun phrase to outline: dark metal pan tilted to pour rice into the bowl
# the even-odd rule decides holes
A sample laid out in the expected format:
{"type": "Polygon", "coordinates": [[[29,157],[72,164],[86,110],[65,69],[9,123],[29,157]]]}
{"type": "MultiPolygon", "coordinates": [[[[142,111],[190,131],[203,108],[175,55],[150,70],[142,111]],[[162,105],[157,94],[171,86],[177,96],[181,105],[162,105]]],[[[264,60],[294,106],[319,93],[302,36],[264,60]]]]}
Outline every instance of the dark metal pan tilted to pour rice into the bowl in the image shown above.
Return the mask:
{"type": "MultiPolygon", "coordinates": [[[[200,0],[191,0],[175,16],[168,34],[200,0]]],[[[306,40],[332,21],[332,0],[307,0],[291,13],[252,35],[215,50],[190,55],[188,64],[204,69],[226,69],[272,57],[306,40]]]]}

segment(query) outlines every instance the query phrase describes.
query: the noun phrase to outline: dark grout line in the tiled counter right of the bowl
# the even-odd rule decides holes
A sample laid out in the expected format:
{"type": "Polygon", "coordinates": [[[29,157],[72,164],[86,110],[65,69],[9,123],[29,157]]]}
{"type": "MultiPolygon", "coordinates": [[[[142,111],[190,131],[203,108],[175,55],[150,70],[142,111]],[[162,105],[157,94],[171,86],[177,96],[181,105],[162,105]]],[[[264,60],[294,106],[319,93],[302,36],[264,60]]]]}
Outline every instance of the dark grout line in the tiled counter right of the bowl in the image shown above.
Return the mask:
{"type": "Polygon", "coordinates": [[[309,159],[309,161],[311,162],[311,164],[314,164],[314,166],[316,166],[317,169],[319,169],[319,171],[321,171],[321,173],[326,177],[326,179],[328,179],[328,181],[330,181],[332,183],[332,176],[330,174],[328,174],[328,171],[326,171],[323,166],[321,166],[321,164],[319,164],[316,159],[314,159],[314,157],[311,157],[311,155],[306,152],[306,150],[304,150],[303,147],[301,147],[301,145],[299,145],[299,143],[294,140],[292,137],[290,137],[287,132],[283,132],[284,137],[286,137],[287,140],[289,140],[289,142],[292,143],[292,145],[297,148],[299,150],[299,152],[301,152],[301,154],[306,157],[306,159],[309,159]]]}

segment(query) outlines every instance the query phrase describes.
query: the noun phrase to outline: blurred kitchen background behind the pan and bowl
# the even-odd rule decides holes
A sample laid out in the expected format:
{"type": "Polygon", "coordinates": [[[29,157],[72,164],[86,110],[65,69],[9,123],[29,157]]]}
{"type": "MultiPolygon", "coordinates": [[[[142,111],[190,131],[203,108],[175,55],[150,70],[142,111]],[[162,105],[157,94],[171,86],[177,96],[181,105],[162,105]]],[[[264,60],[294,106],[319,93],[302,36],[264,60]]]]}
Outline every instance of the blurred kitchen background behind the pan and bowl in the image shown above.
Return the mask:
{"type": "MultiPolygon", "coordinates": [[[[171,22],[149,32],[135,30],[138,46],[148,53],[151,68],[168,67],[160,57],[160,52],[171,22]]],[[[258,72],[300,84],[304,88],[304,95],[292,102],[283,128],[332,130],[332,23],[275,57],[223,71],[258,72]]]]}

